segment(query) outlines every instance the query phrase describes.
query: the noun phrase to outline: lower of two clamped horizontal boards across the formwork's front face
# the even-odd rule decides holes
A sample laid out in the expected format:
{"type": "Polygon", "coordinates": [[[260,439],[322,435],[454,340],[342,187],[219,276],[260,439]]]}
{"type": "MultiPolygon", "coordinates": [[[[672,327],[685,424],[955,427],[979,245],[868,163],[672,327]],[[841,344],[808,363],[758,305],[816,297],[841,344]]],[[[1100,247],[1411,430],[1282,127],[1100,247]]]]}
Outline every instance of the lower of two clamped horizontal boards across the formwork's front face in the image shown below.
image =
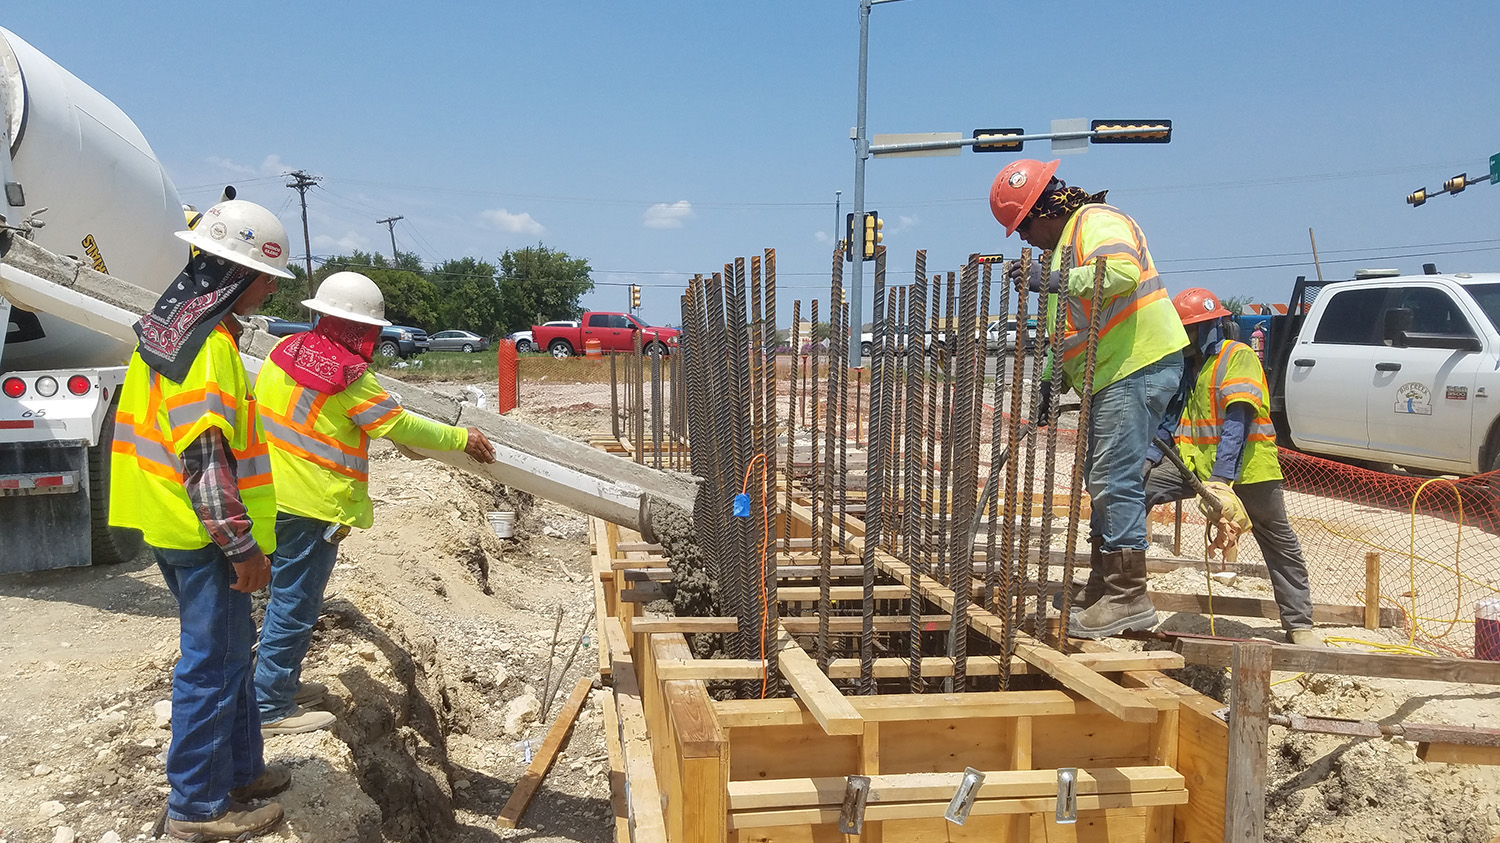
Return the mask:
{"type": "MultiPolygon", "coordinates": [[[[1058,807],[1058,774],[1052,772],[1050,796],[1020,800],[976,800],[969,816],[1005,816],[1052,813],[1058,807]]],[[[951,794],[950,794],[951,796],[951,794]]],[[[1188,801],[1186,790],[1152,790],[1144,794],[1095,794],[1077,798],[1078,813],[1107,812],[1114,808],[1143,808],[1155,806],[1180,806],[1188,801]]],[[[948,800],[940,802],[886,802],[866,806],[864,822],[888,819],[936,819],[948,810],[948,800]]],[[[783,808],[765,812],[735,812],[729,814],[730,831],[748,828],[784,828],[800,825],[832,825],[838,822],[837,807],[783,808]]]]}

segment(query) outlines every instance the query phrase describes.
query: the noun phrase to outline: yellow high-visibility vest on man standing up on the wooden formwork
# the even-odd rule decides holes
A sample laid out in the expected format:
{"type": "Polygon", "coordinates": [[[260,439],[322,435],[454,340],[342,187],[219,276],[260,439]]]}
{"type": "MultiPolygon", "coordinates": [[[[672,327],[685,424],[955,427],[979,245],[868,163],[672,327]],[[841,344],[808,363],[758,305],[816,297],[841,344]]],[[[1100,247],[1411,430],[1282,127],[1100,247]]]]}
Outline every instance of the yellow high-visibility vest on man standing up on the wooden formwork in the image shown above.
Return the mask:
{"type": "MultiPolygon", "coordinates": [[[[1062,246],[1072,246],[1074,254],[1062,330],[1062,370],[1071,386],[1082,388],[1083,384],[1089,318],[1095,308],[1092,262],[1096,258],[1104,258],[1106,274],[1094,392],[1188,345],[1188,333],[1156,276],[1146,236],[1136,220],[1110,206],[1083,206],[1062,228],[1058,248],[1052,252],[1048,268],[1053,272],[1062,268],[1062,246]]],[[[1048,330],[1058,322],[1058,298],[1048,297],[1048,330]]]]}

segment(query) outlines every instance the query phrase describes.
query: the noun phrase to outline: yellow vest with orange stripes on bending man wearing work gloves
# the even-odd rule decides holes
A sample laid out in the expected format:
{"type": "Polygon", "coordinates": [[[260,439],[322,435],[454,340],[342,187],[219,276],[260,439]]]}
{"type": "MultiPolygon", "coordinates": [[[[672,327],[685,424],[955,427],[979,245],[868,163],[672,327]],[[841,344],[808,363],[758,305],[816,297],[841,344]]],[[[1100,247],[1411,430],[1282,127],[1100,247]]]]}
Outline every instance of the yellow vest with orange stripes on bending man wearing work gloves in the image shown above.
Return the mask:
{"type": "Polygon", "coordinates": [[[1224,412],[1234,402],[1256,408],[1256,417],[1245,430],[1245,450],[1239,458],[1239,483],[1281,480],[1276,459],[1276,428],[1270,423],[1270,402],[1266,370],[1260,368],[1256,350],[1227,339],[1218,354],[1203,363],[1198,380],[1182,406],[1178,422],[1178,453],[1200,478],[1208,480],[1218,456],[1224,412]]]}

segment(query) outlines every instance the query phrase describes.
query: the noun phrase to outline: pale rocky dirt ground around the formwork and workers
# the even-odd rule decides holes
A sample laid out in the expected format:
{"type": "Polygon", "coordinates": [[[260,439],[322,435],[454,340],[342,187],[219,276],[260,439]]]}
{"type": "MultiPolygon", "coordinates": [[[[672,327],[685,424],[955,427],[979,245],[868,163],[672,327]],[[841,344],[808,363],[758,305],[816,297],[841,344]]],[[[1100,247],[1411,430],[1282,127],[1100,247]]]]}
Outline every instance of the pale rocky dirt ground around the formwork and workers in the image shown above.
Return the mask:
{"type": "MultiPolygon", "coordinates": [[[[524,387],[516,416],[584,438],[608,429],[604,408],[598,384],[542,382],[524,387]]],[[[584,518],[510,500],[522,513],[519,538],[501,542],[484,519],[496,508],[488,483],[384,444],[372,458],[376,524],[340,549],[306,668],[330,686],[339,724],[267,742],[267,759],[290,764],[294,784],[280,798],[288,822],[264,840],[609,840],[600,690],[522,828],[492,822],[525,770],[528,741],[534,748],[546,732],[536,714],[544,684],[560,688],[555,710],[578,678],[597,670],[584,518]]],[[[1179,570],[1152,586],[1208,584],[1179,570]]],[[[1269,597],[1256,578],[1214,588],[1269,597]]],[[[1162,620],[1166,628],[1208,632],[1196,615],[1162,620]]],[[[1270,621],[1216,618],[1215,630],[1278,638],[1270,621]]],[[[1377,640],[1365,630],[1323,632],[1377,640]]],[[[148,837],[166,790],[160,754],[170,732],[156,704],[170,693],[176,633],[171,596],[144,560],[0,579],[0,843],[148,837]]],[[[1394,630],[1378,638],[1398,639],[1394,630]]],[[[1224,693],[1222,674],[1188,678],[1224,693]]],[[[1274,681],[1280,711],[1500,726],[1492,687],[1282,674],[1274,681]]],[[[1401,740],[1281,728],[1270,736],[1268,840],[1484,843],[1500,834],[1494,768],[1424,764],[1401,740]]]]}

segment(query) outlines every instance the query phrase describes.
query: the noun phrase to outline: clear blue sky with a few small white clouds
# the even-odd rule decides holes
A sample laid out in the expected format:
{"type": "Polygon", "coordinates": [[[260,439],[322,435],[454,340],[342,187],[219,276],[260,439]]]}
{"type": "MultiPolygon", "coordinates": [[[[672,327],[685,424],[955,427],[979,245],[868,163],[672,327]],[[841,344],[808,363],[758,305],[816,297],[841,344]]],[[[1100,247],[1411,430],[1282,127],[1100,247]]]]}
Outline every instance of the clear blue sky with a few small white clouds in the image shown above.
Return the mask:
{"type": "MultiPolygon", "coordinates": [[[[1497,24],[1490,2],[904,0],[872,14],[868,128],[1173,120],[1170,144],[1059,171],[1140,222],[1173,291],[1286,300],[1314,274],[1310,228],[1329,278],[1492,272],[1500,186],[1404,196],[1500,153],[1497,24]]],[[[828,294],[856,0],[8,3],[0,26],[117,102],[184,201],[232,183],[298,230],[280,174],[321,176],[315,256],[388,252],[375,220],[400,214],[398,246],[428,261],[538,242],[588,258],[585,304],[622,309],[640,284],[654,322],[678,321],[688,276],[765,248],[783,324],[828,294]]],[[[930,272],[1017,254],[987,206],[1012,158],[872,160],[890,278],[916,249],[930,272]]]]}

